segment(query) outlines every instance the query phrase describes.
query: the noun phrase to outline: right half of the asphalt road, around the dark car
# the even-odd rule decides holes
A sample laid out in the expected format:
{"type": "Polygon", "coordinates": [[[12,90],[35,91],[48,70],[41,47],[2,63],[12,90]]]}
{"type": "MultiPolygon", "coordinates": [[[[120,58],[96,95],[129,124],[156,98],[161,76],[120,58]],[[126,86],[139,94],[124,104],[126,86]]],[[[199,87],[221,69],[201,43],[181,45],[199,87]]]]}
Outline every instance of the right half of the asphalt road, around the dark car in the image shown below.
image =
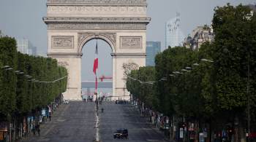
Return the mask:
{"type": "Polygon", "coordinates": [[[154,141],[164,142],[164,135],[157,129],[151,127],[146,119],[140,117],[138,111],[129,105],[114,103],[103,103],[100,108],[104,112],[99,115],[99,137],[102,142],[126,141],[143,142],[154,141]],[[129,131],[128,139],[113,139],[113,133],[117,128],[126,128],[129,131]]]}

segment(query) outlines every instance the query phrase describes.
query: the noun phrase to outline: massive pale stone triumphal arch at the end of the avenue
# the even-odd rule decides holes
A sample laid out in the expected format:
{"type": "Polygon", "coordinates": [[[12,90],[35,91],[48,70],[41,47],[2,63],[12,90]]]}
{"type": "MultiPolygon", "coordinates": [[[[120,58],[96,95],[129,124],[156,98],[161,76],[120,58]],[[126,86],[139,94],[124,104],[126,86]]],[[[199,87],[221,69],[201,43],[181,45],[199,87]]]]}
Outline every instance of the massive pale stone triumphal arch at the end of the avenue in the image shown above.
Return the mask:
{"type": "Polygon", "coordinates": [[[146,9],[146,0],[48,0],[48,57],[69,72],[65,99],[81,100],[82,48],[91,39],[112,48],[113,100],[128,95],[122,66],[146,64],[146,9]]]}

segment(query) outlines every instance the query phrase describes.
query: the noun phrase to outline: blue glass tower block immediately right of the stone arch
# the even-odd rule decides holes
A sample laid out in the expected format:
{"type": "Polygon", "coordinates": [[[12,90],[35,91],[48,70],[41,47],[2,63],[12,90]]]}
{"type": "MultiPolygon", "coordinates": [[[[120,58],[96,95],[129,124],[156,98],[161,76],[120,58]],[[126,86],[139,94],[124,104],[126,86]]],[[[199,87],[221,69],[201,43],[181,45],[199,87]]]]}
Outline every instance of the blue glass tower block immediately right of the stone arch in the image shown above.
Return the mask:
{"type": "Polygon", "coordinates": [[[154,58],[161,52],[161,42],[147,42],[146,46],[146,66],[155,66],[154,58]]]}

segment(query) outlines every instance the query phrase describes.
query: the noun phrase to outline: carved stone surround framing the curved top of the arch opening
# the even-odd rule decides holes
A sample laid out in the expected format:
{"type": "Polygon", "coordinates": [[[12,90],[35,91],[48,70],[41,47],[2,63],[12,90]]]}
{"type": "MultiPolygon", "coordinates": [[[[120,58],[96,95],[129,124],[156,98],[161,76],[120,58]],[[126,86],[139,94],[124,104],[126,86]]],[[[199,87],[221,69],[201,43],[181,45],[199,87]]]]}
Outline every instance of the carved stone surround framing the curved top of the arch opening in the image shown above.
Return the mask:
{"type": "Polygon", "coordinates": [[[82,53],[83,45],[91,39],[102,39],[107,42],[112,52],[116,52],[116,33],[78,33],[78,53],[82,53]]]}

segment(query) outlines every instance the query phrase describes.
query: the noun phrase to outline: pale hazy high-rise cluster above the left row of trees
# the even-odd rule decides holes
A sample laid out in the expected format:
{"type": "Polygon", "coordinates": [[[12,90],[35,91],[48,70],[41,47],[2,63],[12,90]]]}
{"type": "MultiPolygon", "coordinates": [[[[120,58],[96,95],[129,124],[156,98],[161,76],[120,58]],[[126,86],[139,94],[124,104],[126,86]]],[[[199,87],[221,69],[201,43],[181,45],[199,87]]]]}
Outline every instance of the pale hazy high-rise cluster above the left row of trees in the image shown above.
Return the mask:
{"type": "Polygon", "coordinates": [[[34,47],[29,39],[17,39],[17,50],[23,54],[37,55],[37,47],[34,47]]]}

